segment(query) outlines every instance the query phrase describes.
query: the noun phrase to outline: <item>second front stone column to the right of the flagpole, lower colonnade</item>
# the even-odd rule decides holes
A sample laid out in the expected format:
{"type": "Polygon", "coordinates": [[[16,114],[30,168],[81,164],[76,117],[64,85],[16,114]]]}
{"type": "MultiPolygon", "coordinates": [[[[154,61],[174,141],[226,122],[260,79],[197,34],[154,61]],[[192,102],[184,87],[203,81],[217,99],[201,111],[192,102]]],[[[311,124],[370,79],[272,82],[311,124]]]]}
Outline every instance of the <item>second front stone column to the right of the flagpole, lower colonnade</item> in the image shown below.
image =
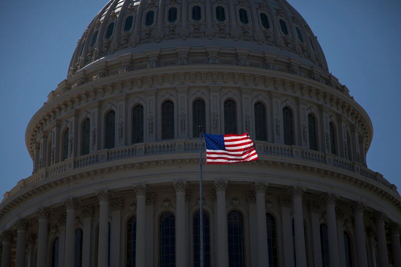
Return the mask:
{"type": "Polygon", "coordinates": [[[257,182],[254,184],[256,194],[256,217],[258,229],[258,261],[259,266],[269,265],[269,254],[267,248],[267,229],[266,229],[266,188],[267,183],[257,182]]]}

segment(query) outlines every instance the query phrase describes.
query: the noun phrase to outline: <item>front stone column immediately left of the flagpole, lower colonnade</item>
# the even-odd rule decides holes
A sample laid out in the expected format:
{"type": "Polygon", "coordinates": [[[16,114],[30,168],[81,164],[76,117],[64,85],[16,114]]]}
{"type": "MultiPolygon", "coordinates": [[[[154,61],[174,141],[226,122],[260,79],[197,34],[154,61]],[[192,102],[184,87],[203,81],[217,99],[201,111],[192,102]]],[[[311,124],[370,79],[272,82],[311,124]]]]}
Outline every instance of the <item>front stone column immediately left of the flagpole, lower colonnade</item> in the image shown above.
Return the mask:
{"type": "Polygon", "coordinates": [[[177,267],[185,267],[187,264],[185,247],[185,192],[186,181],[173,183],[176,195],[176,218],[175,218],[175,262],[177,267]]]}

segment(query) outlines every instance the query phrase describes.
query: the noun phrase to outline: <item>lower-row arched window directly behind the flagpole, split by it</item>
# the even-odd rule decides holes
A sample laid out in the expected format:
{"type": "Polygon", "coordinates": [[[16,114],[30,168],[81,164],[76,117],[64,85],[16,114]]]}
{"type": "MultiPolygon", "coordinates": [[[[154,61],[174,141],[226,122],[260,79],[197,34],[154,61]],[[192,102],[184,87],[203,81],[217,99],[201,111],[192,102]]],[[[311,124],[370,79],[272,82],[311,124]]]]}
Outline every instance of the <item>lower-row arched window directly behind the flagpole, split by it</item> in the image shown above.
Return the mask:
{"type": "MultiPolygon", "coordinates": [[[[210,218],[204,211],[204,266],[210,267],[210,218]]],[[[193,216],[193,261],[194,267],[200,267],[200,226],[199,210],[193,216]]]]}

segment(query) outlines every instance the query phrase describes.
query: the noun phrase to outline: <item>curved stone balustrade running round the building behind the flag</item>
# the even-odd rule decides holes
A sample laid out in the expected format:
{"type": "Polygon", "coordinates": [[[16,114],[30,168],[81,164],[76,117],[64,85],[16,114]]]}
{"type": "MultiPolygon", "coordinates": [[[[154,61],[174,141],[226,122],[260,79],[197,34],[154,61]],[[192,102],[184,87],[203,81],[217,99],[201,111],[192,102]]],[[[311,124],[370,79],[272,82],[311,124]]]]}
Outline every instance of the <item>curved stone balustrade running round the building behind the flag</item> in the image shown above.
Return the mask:
{"type": "MultiPolygon", "coordinates": [[[[268,142],[255,142],[256,150],[260,157],[267,156],[272,158],[292,158],[305,162],[325,164],[338,169],[354,172],[370,181],[376,182],[397,192],[395,185],[388,182],[383,175],[364,167],[363,165],[352,162],[332,154],[309,150],[298,146],[287,146],[268,142]]],[[[140,156],[150,156],[159,154],[173,153],[194,153],[199,151],[199,140],[167,140],[153,143],[140,143],[113,149],[99,150],[87,155],[69,158],[49,167],[42,168],[26,179],[22,179],[17,185],[6,192],[4,199],[16,194],[20,190],[28,187],[34,187],[39,181],[53,177],[60,173],[72,169],[79,169],[89,165],[95,165],[103,162],[117,161],[121,159],[134,158],[140,156]]],[[[202,151],[205,151],[205,144],[202,144],[202,151]]]]}

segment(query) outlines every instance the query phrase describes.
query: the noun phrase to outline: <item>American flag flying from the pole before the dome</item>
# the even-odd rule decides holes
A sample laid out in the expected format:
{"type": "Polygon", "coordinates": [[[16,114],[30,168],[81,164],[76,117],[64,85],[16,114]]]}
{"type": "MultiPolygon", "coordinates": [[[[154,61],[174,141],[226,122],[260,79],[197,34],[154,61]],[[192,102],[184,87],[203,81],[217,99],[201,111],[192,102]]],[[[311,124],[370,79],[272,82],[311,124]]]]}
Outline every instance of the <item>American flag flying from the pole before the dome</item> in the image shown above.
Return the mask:
{"type": "Polygon", "coordinates": [[[245,134],[204,134],[206,163],[225,164],[258,159],[254,142],[245,134]]]}

